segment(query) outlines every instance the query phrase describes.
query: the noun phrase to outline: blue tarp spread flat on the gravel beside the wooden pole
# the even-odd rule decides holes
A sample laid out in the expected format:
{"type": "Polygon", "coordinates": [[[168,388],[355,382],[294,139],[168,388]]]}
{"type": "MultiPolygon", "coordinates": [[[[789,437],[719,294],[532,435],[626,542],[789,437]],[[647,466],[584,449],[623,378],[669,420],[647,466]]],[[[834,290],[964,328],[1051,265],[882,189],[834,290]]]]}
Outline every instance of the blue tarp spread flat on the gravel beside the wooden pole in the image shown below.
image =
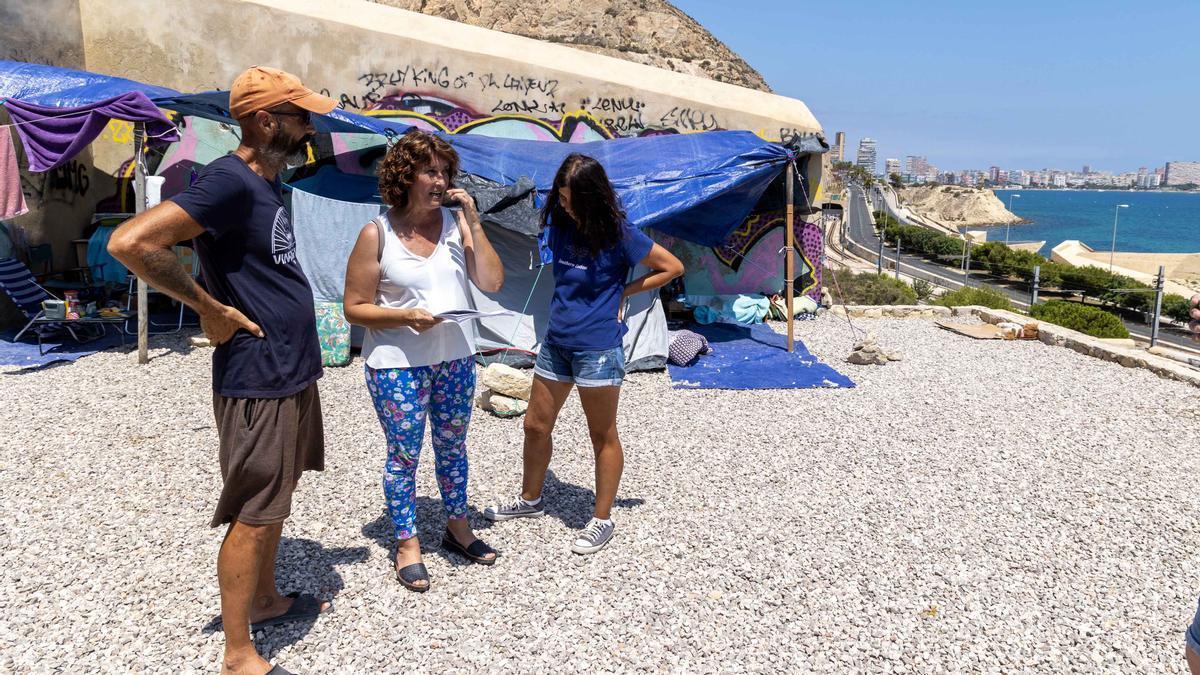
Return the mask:
{"type": "Polygon", "coordinates": [[[787,336],[761,323],[692,325],[713,352],[686,366],[670,365],[676,389],[816,389],[854,383],[817,360],[804,344],[787,353],[787,336]]]}

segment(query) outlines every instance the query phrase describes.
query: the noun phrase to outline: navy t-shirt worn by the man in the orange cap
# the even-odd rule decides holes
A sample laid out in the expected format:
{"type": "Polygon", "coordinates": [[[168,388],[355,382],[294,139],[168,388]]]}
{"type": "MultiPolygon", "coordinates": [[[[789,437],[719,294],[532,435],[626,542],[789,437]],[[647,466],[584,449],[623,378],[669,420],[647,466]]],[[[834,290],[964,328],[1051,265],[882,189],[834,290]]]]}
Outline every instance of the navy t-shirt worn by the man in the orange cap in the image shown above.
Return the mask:
{"type": "Polygon", "coordinates": [[[296,262],[280,181],[226,155],[172,197],[204,227],[196,238],[204,286],[265,338],[238,330],[212,354],[212,389],[238,399],[281,399],[322,375],[312,288],[296,262]]]}

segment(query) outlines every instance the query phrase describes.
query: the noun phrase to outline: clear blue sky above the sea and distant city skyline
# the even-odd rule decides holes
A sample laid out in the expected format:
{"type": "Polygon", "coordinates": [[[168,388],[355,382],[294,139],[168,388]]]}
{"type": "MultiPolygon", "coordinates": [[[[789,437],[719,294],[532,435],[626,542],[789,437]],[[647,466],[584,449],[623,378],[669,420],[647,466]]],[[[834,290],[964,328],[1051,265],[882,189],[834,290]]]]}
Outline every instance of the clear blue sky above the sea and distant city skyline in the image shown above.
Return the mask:
{"type": "Polygon", "coordinates": [[[1200,161],[1200,0],[671,0],[833,139],[941,169],[1200,161]]]}

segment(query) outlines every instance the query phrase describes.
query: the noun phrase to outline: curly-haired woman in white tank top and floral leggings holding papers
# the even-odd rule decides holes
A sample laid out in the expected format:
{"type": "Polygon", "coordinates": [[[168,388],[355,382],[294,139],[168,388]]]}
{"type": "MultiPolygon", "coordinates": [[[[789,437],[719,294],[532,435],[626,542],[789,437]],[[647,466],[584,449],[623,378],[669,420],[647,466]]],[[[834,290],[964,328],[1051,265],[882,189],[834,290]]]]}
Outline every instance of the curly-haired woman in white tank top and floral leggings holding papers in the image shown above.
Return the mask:
{"type": "Polygon", "coordinates": [[[446,512],[442,545],[474,562],[496,562],[496,551],[467,524],[474,327],[434,315],[472,309],[468,283],[499,291],[504,268],[475,202],[454,187],[457,172],[458,155],[445,141],[404,135],[379,165],[379,193],[391,208],[359,233],[346,270],[346,318],[367,329],[367,389],[388,441],[383,485],[398,542],[396,578],[418,592],[430,587],[415,531],[416,460],[427,423],[446,512]]]}

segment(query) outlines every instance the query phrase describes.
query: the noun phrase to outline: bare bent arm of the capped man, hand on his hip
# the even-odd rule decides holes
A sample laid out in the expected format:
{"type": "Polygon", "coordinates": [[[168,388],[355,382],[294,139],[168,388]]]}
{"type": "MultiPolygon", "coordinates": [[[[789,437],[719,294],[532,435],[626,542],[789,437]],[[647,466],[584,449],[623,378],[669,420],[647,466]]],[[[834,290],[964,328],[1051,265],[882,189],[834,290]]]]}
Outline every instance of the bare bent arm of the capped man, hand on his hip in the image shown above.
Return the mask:
{"type": "Polygon", "coordinates": [[[234,307],[222,305],[196,283],[172,246],[204,233],[187,211],[163,202],[125,221],[108,240],[108,252],[146,283],[187,304],[200,315],[205,335],[220,345],[239,328],[263,336],[262,329],[234,307]]]}

